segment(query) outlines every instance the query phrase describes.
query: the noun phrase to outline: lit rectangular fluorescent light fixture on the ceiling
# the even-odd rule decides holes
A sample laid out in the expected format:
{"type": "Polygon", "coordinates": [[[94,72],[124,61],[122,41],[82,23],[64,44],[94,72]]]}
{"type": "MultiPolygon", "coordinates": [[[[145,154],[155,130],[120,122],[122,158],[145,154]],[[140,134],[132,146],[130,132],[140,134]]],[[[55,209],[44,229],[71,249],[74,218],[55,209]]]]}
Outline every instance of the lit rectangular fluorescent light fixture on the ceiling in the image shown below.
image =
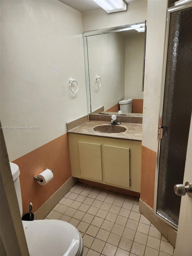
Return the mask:
{"type": "Polygon", "coordinates": [[[123,0],[93,0],[107,13],[126,11],[127,5],[123,0]]]}

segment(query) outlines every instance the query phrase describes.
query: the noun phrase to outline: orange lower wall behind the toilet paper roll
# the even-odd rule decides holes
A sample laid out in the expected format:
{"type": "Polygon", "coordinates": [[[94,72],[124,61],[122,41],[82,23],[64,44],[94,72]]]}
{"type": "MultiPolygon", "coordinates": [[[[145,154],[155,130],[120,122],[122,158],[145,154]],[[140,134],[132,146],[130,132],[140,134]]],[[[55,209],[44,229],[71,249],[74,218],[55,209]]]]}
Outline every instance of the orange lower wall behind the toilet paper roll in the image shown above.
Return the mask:
{"type": "Polygon", "coordinates": [[[68,135],[64,134],[13,162],[20,170],[23,215],[29,212],[30,202],[35,212],[71,177],[68,135]],[[45,167],[53,171],[54,177],[48,184],[41,186],[34,176],[45,167]]]}

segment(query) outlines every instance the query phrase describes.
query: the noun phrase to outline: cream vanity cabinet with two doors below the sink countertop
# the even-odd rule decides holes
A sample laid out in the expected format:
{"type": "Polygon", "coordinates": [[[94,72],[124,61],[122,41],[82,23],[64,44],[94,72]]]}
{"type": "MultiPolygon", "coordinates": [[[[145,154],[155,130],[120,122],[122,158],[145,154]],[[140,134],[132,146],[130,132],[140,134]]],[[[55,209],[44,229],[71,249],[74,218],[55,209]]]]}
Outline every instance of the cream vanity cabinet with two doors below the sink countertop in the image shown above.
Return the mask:
{"type": "Polygon", "coordinates": [[[140,192],[141,141],[68,134],[72,176],[140,192]]]}

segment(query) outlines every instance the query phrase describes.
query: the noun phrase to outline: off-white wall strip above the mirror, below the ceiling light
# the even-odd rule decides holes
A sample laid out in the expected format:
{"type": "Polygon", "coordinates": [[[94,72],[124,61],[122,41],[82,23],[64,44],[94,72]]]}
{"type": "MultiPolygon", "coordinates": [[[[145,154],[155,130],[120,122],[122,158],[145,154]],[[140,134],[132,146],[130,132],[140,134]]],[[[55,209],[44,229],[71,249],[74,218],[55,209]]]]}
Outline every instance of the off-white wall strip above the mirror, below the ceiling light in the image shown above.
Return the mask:
{"type": "Polygon", "coordinates": [[[82,14],[83,31],[105,29],[127,24],[139,23],[147,18],[147,1],[138,1],[128,4],[127,11],[107,14],[97,10],[82,14]]]}

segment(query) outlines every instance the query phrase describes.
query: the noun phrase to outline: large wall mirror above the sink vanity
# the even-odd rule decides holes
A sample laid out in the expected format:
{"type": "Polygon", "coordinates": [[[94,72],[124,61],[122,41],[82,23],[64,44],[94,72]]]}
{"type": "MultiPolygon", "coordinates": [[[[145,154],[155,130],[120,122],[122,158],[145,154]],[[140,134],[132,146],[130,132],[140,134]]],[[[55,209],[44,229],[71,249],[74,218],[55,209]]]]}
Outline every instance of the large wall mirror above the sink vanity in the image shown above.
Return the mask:
{"type": "Polygon", "coordinates": [[[145,34],[145,22],[83,33],[89,113],[118,112],[126,98],[143,113],[145,34]]]}

